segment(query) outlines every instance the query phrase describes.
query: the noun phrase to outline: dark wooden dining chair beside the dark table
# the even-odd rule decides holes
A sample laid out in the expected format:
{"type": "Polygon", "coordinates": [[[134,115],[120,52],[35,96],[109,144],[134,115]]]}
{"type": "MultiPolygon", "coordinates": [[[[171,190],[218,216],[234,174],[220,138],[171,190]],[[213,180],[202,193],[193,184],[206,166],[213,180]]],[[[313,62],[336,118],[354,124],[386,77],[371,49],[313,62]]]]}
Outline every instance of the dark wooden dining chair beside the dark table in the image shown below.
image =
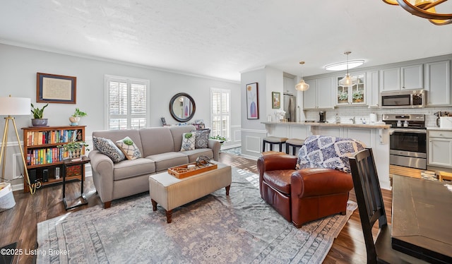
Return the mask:
{"type": "Polygon", "coordinates": [[[349,157],[353,185],[361,218],[367,251],[367,263],[427,263],[424,260],[396,251],[391,246],[391,226],[384,210],[379,177],[371,148],[349,157]],[[379,221],[379,232],[374,241],[372,227],[379,221]]]}

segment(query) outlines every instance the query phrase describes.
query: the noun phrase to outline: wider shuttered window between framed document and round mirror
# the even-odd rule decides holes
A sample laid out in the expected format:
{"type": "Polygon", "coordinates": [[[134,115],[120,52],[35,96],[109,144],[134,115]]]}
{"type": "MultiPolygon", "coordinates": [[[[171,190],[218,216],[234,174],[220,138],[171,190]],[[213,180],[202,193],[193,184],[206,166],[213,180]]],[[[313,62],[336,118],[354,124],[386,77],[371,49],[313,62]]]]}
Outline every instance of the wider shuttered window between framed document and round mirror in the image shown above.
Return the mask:
{"type": "Polygon", "coordinates": [[[105,127],[110,130],[144,128],[149,124],[149,80],[105,76],[107,113],[105,127]]]}

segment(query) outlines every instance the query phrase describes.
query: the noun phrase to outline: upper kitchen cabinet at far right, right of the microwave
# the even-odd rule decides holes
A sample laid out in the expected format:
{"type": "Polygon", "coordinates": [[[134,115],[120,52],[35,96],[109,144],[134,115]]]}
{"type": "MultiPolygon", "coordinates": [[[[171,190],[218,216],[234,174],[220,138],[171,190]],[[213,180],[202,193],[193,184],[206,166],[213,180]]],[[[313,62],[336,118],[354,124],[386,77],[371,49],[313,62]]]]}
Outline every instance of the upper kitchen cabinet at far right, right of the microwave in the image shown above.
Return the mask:
{"type": "Polygon", "coordinates": [[[451,61],[425,64],[427,106],[451,105],[451,61]]]}

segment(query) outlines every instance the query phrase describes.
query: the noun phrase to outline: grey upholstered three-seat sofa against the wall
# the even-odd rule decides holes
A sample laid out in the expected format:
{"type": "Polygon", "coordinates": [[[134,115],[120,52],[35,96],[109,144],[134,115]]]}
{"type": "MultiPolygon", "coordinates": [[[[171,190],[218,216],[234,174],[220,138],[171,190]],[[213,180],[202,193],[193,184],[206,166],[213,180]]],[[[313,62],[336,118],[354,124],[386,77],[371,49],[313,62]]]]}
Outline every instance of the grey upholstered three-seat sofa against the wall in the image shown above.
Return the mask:
{"type": "Polygon", "coordinates": [[[112,200],[149,191],[150,174],[195,162],[200,155],[218,161],[221,147],[218,140],[209,139],[208,148],[180,151],[182,134],[194,129],[194,126],[165,126],[139,130],[94,131],[93,137],[109,138],[113,142],[129,136],[142,154],[142,157],[136,160],[114,163],[95,147],[89,153],[94,185],[104,208],[109,208],[112,200]]]}

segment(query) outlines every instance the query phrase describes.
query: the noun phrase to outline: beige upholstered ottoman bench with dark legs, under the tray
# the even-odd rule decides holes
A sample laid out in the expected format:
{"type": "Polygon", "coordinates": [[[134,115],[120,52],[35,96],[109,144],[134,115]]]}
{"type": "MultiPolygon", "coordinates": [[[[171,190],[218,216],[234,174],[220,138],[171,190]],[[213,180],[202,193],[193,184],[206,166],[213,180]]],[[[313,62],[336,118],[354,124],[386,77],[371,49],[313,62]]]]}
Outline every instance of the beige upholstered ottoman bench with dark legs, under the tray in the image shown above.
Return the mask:
{"type": "Polygon", "coordinates": [[[177,179],[167,172],[150,175],[149,195],[153,203],[153,210],[157,210],[157,204],[165,208],[167,222],[170,223],[174,208],[190,203],[220,188],[225,188],[228,196],[232,182],[231,167],[218,162],[212,163],[217,164],[218,168],[183,179],[177,179]]]}

